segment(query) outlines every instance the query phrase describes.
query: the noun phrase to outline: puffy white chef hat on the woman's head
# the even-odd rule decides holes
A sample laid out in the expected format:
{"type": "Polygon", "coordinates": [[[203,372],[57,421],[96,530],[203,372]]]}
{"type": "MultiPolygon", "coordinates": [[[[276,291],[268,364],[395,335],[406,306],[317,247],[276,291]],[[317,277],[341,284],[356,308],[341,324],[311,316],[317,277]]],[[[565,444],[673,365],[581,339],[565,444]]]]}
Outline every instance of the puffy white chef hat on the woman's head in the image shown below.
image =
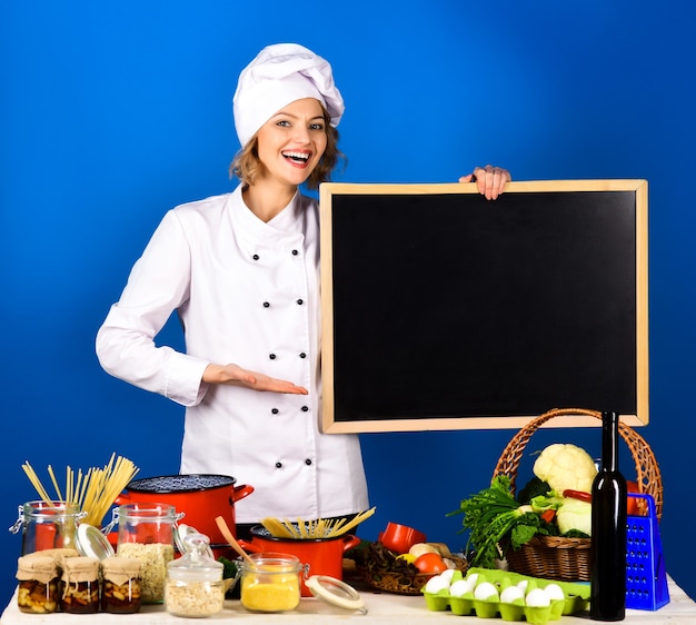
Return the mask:
{"type": "Polygon", "coordinates": [[[344,99],[328,61],[297,43],[264,48],[239,75],[232,100],[241,145],[282,107],[302,98],[319,100],[329,111],[331,126],[338,126],[344,99]]]}

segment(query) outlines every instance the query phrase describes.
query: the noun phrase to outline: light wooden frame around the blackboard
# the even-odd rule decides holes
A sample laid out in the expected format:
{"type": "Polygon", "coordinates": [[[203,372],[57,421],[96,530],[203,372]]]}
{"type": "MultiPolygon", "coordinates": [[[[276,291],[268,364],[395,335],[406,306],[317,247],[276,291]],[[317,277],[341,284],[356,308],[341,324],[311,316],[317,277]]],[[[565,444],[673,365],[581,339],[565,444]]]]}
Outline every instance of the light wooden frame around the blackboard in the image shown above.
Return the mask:
{"type": "MultiPolygon", "coordinates": [[[[630,414],[622,413],[622,418],[626,423],[633,426],[644,426],[648,424],[648,194],[646,180],[543,180],[543,181],[523,181],[510,182],[506,188],[506,192],[500,197],[497,202],[489,202],[487,210],[496,211],[503,206],[503,199],[506,202],[514,202],[519,200],[529,201],[534,200],[536,194],[550,194],[547,196],[539,196],[538,199],[560,198],[564,200],[568,196],[564,194],[580,194],[575,196],[577,201],[585,204],[591,204],[590,199],[599,198],[604,199],[605,196],[597,196],[596,194],[613,194],[623,192],[622,197],[630,198],[633,202],[634,218],[635,218],[635,361],[632,357],[629,366],[635,368],[635,410],[630,414]],[[628,195],[626,195],[626,192],[628,195]],[[520,196],[516,196],[521,194],[520,196]],[[531,195],[531,198],[530,198],[531,195]],[[587,200],[586,200],[587,199],[587,200]],[[634,201],[635,200],[635,201],[634,201]]],[[[428,416],[421,416],[414,418],[400,418],[398,416],[389,415],[382,417],[375,415],[366,418],[365,415],[354,418],[351,415],[337,414],[337,403],[340,397],[336,391],[335,371],[340,369],[337,365],[340,365],[341,354],[337,353],[335,345],[335,335],[340,334],[337,331],[335,321],[335,297],[337,291],[335,289],[344,288],[342,285],[335,284],[335,269],[340,262],[350,264],[351,258],[339,258],[337,255],[337,240],[336,237],[341,236],[341,231],[335,229],[335,220],[337,215],[340,215],[342,220],[360,219],[360,210],[349,211],[347,208],[341,208],[340,212],[336,209],[336,206],[345,206],[346,201],[350,201],[351,206],[359,206],[360,201],[365,198],[380,198],[381,196],[389,196],[389,205],[398,206],[406,197],[412,197],[418,199],[420,196],[431,196],[427,198],[428,206],[431,205],[430,200],[437,201],[437,198],[448,196],[473,196],[471,199],[465,201],[478,201],[474,199],[474,196],[478,196],[475,185],[464,183],[424,183],[424,185],[362,185],[362,183],[324,183],[320,187],[320,228],[321,228],[321,299],[322,299],[322,385],[324,385],[324,399],[322,399],[322,418],[320,427],[322,431],[329,434],[341,433],[369,433],[369,431],[417,431],[417,430],[456,430],[456,429],[504,429],[504,428],[521,428],[539,414],[551,408],[586,408],[586,409],[605,409],[614,407],[604,406],[547,406],[544,409],[539,409],[534,414],[499,414],[499,415],[470,415],[451,416],[451,415],[438,415],[432,414],[428,416]],[[391,201],[394,200],[394,201],[391,201]],[[356,204],[358,202],[358,204],[356,204]],[[335,214],[336,211],[336,214],[335,214]],[[357,217],[354,218],[352,214],[357,217]],[[335,267],[336,264],[336,267],[335,267]]],[[[615,194],[616,196],[616,194],[615,194]]],[[[483,200],[483,198],[480,198],[483,200]]],[[[485,200],[483,200],[485,201],[485,200]]],[[[384,205],[385,202],[382,202],[384,205]]],[[[391,210],[391,208],[390,208],[391,210]]],[[[419,209],[416,209],[419,210],[419,209]]],[[[456,209],[459,210],[459,209],[456,209]]],[[[425,217],[425,215],[424,215],[425,217]]],[[[342,221],[344,225],[346,221],[342,221]]],[[[428,228],[431,220],[419,220],[419,227],[428,228]]],[[[366,224],[365,227],[358,226],[360,237],[367,240],[369,237],[380,237],[379,231],[375,231],[372,224],[366,224]]],[[[349,229],[349,228],[348,228],[349,229]]],[[[354,232],[355,235],[355,232],[354,232]]],[[[495,246],[495,240],[490,244],[495,246]]],[[[355,245],[355,244],[350,244],[355,245]]],[[[361,245],[361,244],[359,244],[361,245]]],[[[395,245],[394,239],[390,239],[389,245],[395,245]]],[[[399,245],[399,244],[396,244],[399,245]]],[[[408,245],[405,241],[405,245],[408,245]]],[[[340,247],[340,246],[339,246],[340,247]]],[[[385,250],[385,254],[389,254],[385,250]]],[[[342,274],[342,276],[350,276],[350,274],[342,274]]],[[[352,278],[349,277],[349,280],[352,278]]],[[[360,276],[360,282],[354,285],[361,287],[366,286],[372,288],[371,282],[388,279],[386,276],[379,275],[378,268],[375,271],[367,271],[366,275],[360,276]]],[[[341,280],[342,281],[342,280],[341,280]]],[[[630,286],[633,288],[633,285],[630,286]]],[[[350,287],[346,287],[350,288],[350,287]]],[[[374,288],[378,288],[375,286],[374,288]]],[[[356,294],[357,297],[357,294],[356,294]]],[[[386,331],[386,329],[385,329],[386,331]]],[[[633,331],[633,330],[632,330],[633,331]]],[[[622,365],[623,367],[623,365],[622,365]]],[[[425,366],[427,370],[427,366],[425,366]]],[[[344,369],[344,370],[347,370],[344,369]]],[[[350,375],[359,376],[362,373],[360,370],[350,371],[350,375]]],[[[629,375],[628,371],[626,375],[629,375]]],[[[633,375],[633,374],[632,374],[633,375]]],[[[633,380],[632,380],[633,384],[633,380]]],[[[556,419],[554,426],[556,427],[595,427],[597,426],[597,419],[586,417],[581,415],[568,416],[564,419],[556,419]],[[563,423],[557,423],[563,421],[563,423]]]]}

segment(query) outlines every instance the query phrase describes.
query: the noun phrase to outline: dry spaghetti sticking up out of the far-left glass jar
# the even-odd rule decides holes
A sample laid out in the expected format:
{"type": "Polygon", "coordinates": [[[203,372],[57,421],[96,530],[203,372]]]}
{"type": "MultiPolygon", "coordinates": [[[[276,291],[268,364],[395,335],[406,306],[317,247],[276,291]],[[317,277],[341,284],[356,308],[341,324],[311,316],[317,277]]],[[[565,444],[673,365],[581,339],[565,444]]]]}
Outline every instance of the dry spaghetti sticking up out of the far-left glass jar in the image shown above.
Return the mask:
{"type": "Polygon", "coordinates": [[[51,497],[29,463],[26,462],[22,469],[41,499],[48,504],[57,499],[76,504],[81,512],[86,513],[82,523],[95,526],[101,524],[116,498],[139,470],[128,458],[112,454],[103,468],[92,467],[87,473],[78,469],[76,475],[71,467],[67,467],[64,490],[61,490],[53,467],[49,465],[48,474],[56,490],[56,497],[51,497]]]}

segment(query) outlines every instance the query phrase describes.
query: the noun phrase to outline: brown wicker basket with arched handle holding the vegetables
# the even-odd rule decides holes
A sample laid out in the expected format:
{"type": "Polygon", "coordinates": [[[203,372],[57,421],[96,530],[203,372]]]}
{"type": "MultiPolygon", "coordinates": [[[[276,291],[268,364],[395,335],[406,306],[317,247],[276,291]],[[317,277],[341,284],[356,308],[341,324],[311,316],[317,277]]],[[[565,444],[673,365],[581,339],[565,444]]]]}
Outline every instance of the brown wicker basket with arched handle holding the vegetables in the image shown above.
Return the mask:
{"type": "MultiPolygon", "coordinates": [[[[500,455],[494,476],[507,475],[515,492],[517,470],[529,438],[549,419],[565,415],[585,415],[601,419],[601,413],[581,408],[557,408],[545,413],[529,421],[513,437],[500,455]]],[[[628,445],[636,465],[638,492],[653,496],[659,519],[663,510],[663,480],[655,455],[643,436],[630,426],[619,423],[619,434],[628,445]]],[[[519,549],[507,549],[506,558],[509,569],[516,573],[545,579],[589,582],[591,566],[589,546],[589,538],[535,536],[519,549]]]]}

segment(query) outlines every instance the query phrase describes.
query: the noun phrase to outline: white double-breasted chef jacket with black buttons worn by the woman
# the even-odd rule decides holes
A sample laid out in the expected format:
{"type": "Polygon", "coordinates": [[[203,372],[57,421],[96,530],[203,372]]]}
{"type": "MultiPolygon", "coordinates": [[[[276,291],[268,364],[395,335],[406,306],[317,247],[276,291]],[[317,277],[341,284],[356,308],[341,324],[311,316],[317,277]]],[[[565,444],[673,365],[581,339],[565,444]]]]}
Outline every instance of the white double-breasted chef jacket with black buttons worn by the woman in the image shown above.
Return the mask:
{"type": "Polygon", "coordinates": [[[255,492],[238,523],[367,509],[357,435],[321,434],[319,218],[296,194],[268,224],[233,192],[166,214],[97,335],[111,375],[186,406],[181,473],[230,475],[255,492]],[[186,354],[156,346],[173,310],[186,354]],[[235,363],[309,395],[201,383],[235,363]]]}

